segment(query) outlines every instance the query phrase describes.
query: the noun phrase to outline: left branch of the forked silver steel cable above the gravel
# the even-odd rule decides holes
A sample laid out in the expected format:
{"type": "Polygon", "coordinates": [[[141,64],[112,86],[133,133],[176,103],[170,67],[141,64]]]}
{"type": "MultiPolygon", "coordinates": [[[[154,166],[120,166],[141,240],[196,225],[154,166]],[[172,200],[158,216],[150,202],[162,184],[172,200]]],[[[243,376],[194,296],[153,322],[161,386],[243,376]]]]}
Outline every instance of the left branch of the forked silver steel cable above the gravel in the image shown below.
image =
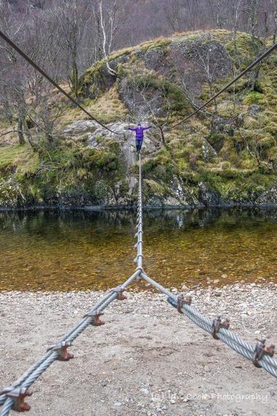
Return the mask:
{"type": "MultiPolygon", "coordinates": [[[[125,290],[128,285],[134,281],[134,279],[139,276],[140,270],[136,270],[132,276],[130,276],[127,281],[123,283],[123,285],[120,285],[120,288],[122,290],[125,290]]],[[[103,299],[101,299],[98,303],[96,303],[95,306],[91,310],[89,310],[90,314],[99,314],[102,310],[107,308],[109,306],[109,303],[117,299],[117,293],[111,290],[103,299]]],[[[89,326],[93,322],[93,316],[85,316],[83,319],[80,320],[80,322],[75,325],[69,332],[67,332],[60,341],[57,342],[57,344],[60,344],[61,342],[73,342],[83,331],[84,329],[89,326]]],[[[12,383],[10,385],[11,388],[29,388],[30,385],[35,383],[37,381],[37,378],[41,376],[50,365],[57,360],[57,356],[59,356],[59,353],[57,351],[48,351],[35,365],[30,367],[26,371],[26,373],[23,374],[15,383],[12,383]]],[[[1,408],[0,416],[6,416],[9,414],[10,409],[12,408],[14,400],[10,397],[7,397],[6,394],[2,394],[0,397],[0,405],[3,404],[3,408],[1,408]]]]}

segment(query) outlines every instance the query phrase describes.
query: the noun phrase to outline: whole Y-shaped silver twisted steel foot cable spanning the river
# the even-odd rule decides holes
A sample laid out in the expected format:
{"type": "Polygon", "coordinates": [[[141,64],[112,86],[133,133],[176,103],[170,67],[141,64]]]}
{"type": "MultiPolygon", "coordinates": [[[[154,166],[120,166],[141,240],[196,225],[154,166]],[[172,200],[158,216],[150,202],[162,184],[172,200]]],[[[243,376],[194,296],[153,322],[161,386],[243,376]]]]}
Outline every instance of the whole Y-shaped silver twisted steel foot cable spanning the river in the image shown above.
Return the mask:
{"type": "MultiPolygon", "coordinates": [[[[137,243],[135,247],[137,249],[137,256],[134,259],[134,262],[137,264],[136,272],[132,274],[132,276],[120,286],[121,290],[125,290],[127,285],[134,281],[134,278],[142,277],[148,283],[154,285],[155,288],[163,292],[168,297],[170,304],[172,306],[177,307],[178,297],[176,294],[170,292],[170,290],[163,287],[163,285],[157,283],[152,278],[150,278],[145,272],[143,271],[143,201],[142,201],[142,173],[141,173],[141,154],[139,153],[139,187],[138,187],[138,207],[137,207],[137,225],[138,231],[135,235],[137,237],[137,243]]],[[[103,299],[101,299],[96,306],[94,306],[87,315],[76,325],[74,326],[68,333],[64,335],[64,337],[57,342],[73,342],[79,335],[84,331],[89,324],[93,322],[93,316],[89,315],[98,315],[101,310],[107,308],[109,303],[117,299],[118,293],[115,290],[111,290],[103,299]]],[[[208,333],[213,333],[213,321],[199,313],[197,309],[193,306],[184,303],[181,306],[182,312],[192,321],[194,324],[199,326],[200,328],[204,329],[204,331],[208,333]]],[[[239,353],[240,355],[248,358],[249,360],[253,360],[253,353],[255,347],[253,345],[244,342],[238,335],[233,334],[229,329],[221,327],[220,330],[217,332],[217,337],[222,340],[227,346],[231,349],[239,353]]],[[[29,388],[30,385],[35,383],[37,378],[41,376],[50,365],[57,360],[59,357],[59,352],[55,350],[48,351],[35,365],[30,367],[26,373],[24,373],[21,378],[19,378],[15,383],[13,383],[10,388],[14,390],[17,387],[20,388],[29,388]]],[[[277,378],[277,360],[272,358],[271,356],[264,355],[258,361],[259,365],[265,369],[266,372],[271,374],[272,376],[277,378]]],[[[0,416],[7,416],[13,406],[14,399],[11,397],[7,397],[6,394],[2,394],[0,397],[0,405],[3,404],[3,408],[1,409],[0,416]]]]}

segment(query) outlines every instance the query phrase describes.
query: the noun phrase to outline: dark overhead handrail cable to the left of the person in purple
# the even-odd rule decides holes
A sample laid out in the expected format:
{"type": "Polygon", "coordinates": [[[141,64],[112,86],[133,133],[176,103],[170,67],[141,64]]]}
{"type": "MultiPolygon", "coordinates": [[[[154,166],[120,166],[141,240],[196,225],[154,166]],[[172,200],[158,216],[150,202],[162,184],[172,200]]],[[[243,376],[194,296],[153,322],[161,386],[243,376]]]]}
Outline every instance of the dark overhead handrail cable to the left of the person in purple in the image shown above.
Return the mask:
{"type": "Polygon", "coordinates": [[[83,106],[81,106],[78,101],[76,101],[75,99],[73,99],[73,97],[71,97],[71,95],[69,95],[62,87],[60,87],[60,85],[58,85],[53,78],[51,78],[50,76],[48,76],[46,74],[46,72],[44,72],[44,70],[39,67],[31,58],[29,58],[29,56],[26,55],[26,53],[24,53],[24,51],[21,51],[21,49],[14,43],[12,42],[12,40],[10,40],[10,38],[8,38],[7,35],[5,35],[5,33],[0,31],[0,37],[5,40],[5,42],[7,42],[10,47],[12,47],[12,49],[15,49],[15,51],[17,51],[17,53],[19,53],[19,55],[22,56],[22,58],[24,58],[30,65],[32,65],[33,68],[35,68],[39,74],[41,74],[42,76],[44,76],[44,78],[47,79],[47,81],[49,81],[49,83],[51,83],[52,85],[54,85],[55,88],[57,88],[57,90],[59,90],[60,92],[62,92],[62,94],[65,95],[65,97],[67,99],[69,99],[73,104],[75,104],[75,106],[77,106],[78,108],[80,108],[80,110],[82,110],[86,115],[89,116],[90,119],[92,119],[94,122],[100,124],[100,126],[102,126],[103,128],[105,128],[106,130],[108,130],[110,133],[114,133],[117,135],[121,135],[122,133],[117,133],[116,131],[111,130],[111,128],[105,126],[105,124],[102,124],[98,119],[96,119],[96,117],[93,117],[93,115],[91,115],[91,113],[89,113],[83,106]]]}

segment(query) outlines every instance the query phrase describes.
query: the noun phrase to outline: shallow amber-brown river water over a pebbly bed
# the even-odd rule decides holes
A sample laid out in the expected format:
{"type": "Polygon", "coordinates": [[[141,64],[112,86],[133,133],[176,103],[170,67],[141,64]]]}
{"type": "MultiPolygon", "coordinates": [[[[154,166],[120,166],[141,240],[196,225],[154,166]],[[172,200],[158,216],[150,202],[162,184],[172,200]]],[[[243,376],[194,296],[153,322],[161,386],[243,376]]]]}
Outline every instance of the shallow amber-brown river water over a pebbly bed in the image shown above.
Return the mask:
{"type": "MultiPolygon", "coordinates": [[[[134,272],[134,213],[0,212],[0,290],[107,289],[134,272]]],[[[145,270],[168,285],[277,283],[277,210],[145,213],[145,270]]]]}

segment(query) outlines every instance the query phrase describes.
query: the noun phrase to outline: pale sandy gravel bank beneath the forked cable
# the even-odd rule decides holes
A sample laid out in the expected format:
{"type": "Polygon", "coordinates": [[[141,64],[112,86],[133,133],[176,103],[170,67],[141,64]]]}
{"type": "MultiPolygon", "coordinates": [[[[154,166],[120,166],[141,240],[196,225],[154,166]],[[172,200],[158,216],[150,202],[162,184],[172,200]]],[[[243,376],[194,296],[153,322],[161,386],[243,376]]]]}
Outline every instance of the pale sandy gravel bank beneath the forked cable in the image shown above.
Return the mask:
{"type": "MultiPolygon", "coordinates": [[[[277,340],[270,287],[199,290],[193,304],[229,316],[247,341],[277,340]]],[[[0,294],[0,374],[15,381],[93,306],[102,292],[0,294]]],[[[177,313],[165,297],[129,292],[33,385],[29,415],[277,415],[277,382],[177,313]]]]}

